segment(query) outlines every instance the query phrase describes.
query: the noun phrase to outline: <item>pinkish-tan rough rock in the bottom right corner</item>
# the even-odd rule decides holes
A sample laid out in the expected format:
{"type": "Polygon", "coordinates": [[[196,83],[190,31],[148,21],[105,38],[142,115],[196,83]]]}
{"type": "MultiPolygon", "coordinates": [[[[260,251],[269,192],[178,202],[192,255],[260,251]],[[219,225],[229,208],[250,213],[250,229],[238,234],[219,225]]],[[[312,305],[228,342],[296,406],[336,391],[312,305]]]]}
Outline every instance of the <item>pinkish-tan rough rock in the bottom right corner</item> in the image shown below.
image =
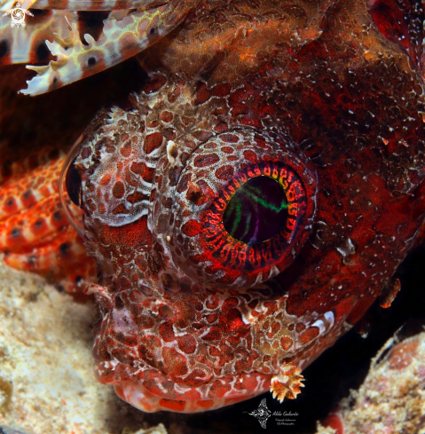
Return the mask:
{"type": "Polygon", "coordinates": [[[396,335],[382,347],[365,382],[319,424],[318,434],[425,433],[425,332],[397,341],[396,335]]]}

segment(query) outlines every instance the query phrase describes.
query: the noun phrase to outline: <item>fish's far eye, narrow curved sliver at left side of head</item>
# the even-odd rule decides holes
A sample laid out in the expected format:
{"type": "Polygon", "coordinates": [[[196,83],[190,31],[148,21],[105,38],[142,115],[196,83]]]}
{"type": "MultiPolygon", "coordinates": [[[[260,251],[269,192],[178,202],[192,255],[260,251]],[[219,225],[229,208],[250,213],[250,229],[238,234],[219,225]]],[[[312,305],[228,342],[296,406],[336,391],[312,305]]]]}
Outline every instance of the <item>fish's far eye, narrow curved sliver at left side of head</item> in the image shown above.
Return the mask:
{"type": "Polygon", "coordinates": [[[64,162],[59,179],[59,197],[62,208],[75,231],[84,238],[83,183],[75,161],[81,150],[82,137],[78,138],[64,162]]]}

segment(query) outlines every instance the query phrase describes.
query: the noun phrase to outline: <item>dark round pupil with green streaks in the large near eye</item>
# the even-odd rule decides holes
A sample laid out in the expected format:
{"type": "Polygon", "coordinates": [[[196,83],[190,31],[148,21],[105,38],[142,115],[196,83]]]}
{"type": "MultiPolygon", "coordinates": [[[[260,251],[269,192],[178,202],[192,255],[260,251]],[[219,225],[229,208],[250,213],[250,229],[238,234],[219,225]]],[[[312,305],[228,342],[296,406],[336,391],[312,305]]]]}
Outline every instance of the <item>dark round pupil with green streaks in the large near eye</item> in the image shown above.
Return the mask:
{"type": "Polygon", "coordinates": [[[241,185],[223,214],[225,230],[247,244],[270,240],[286,221],[287,196],[279,182],[264,176],[241,185]]]}

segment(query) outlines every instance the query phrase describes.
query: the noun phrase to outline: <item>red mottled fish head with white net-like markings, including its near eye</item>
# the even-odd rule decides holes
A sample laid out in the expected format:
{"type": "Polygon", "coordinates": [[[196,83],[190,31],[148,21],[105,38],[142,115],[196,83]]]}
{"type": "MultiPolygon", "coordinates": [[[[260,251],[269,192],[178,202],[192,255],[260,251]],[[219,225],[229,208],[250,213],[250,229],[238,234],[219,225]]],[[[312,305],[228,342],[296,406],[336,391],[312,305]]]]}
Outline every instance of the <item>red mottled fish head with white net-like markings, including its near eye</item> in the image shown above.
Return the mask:
{"type": "Polygon", "coordinates": [[[352,0],[201,4],[86,131],[96,375],[133,406],[295,398],[421,241],[421,38],[415,56],[378,21],[352,0]],[[270,233],[239,228],[265,209],[285,209],[270,233]]]}

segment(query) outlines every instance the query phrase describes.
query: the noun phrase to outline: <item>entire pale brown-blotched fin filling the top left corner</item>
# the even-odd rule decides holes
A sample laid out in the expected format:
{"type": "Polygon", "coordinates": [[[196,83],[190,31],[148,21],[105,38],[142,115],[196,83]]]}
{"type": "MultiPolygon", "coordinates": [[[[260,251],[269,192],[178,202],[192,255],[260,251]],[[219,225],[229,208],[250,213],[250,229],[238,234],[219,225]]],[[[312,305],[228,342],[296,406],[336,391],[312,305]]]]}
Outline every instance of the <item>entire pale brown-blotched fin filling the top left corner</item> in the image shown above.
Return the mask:
{"type": "MultiPolygon", "coordinates": [[[[0,11],[12,9],[0,1],[0,11]]],[[[28,32],[4,20],[0,25],[0,65],[35,63],[37,74],[21,93],[39,95],[97,74],[138,54],[176,28],[199,0],[28,0],[28,32]],[[53,59],[56,57],[56,59],[53,59]]]]}

